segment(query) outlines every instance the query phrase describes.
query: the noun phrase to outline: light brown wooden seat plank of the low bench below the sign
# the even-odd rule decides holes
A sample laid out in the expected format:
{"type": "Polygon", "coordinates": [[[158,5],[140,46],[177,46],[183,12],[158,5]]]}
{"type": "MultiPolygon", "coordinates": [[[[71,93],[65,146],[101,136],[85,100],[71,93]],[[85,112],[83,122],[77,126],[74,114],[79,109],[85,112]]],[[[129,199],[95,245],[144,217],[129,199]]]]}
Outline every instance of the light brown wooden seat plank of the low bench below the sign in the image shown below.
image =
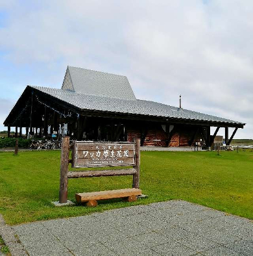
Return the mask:
{"type": "Polygon", "coordinates": [[[119,190],[106,190],[97,192],[86,192],[75,194],[78,203],[84,203],[90,200],[102,200],[112,198],[127,198],[129,196],[140,196],[141,190],[138,188],[125,188],[119,190]]]}

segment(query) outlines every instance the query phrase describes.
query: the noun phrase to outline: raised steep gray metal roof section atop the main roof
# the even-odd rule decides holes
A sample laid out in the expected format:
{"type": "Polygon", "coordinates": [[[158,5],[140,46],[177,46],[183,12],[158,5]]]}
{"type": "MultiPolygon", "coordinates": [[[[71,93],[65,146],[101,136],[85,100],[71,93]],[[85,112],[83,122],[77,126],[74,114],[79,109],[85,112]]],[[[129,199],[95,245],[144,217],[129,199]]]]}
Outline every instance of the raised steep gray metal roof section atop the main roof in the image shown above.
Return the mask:
{"type": "Polygon", "coordinates": [[[127,77],[71,66],[67,67],[62,90],[75,91],[77,94],[136,100],[127,77]]]}

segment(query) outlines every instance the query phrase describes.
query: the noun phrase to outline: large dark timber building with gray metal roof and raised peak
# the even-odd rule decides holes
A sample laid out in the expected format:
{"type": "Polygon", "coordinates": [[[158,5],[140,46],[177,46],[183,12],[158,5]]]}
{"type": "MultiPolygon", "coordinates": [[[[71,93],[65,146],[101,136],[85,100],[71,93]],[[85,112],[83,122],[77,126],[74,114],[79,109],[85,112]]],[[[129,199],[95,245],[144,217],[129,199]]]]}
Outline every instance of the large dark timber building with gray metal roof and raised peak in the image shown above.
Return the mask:
{"type": "Polygon", "coordinates": [[[210,146],[221,127],[230,144],[245,123],[181,107],[136,99],[123,75],[68,66],[62,88],[27,86],[4,124],[37,136],[68,134],[78,140],[141,138],[147,146],[210,146]],[[211,136],[210,127],[217,127],[211,136]],[[65,127],[66,131],[62,131],[65,127]],[[228,127],[234,133],[228,138],[228,127]],[[38,132],[39,131],[39,132],[38,132]]]}

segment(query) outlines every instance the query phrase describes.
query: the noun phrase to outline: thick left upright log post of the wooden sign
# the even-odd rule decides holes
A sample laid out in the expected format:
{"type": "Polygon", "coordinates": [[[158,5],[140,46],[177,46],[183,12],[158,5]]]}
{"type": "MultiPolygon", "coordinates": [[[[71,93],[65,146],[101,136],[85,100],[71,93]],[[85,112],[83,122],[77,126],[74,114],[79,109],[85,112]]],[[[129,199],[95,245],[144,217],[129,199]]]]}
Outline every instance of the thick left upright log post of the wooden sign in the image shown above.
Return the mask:
{"type": "Polygon", "coordinates": [[[59,203],[67,203],[67,172],[69,170],[69,137],[62,138],[60,155],[60,191],[59,203]]]}

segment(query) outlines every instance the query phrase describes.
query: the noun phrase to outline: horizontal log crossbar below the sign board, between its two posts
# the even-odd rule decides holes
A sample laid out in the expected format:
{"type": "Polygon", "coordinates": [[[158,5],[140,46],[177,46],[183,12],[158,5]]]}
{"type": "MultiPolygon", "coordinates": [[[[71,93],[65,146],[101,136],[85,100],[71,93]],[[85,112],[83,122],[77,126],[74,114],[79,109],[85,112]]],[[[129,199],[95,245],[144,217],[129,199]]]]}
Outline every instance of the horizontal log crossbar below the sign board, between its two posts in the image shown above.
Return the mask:
{"type": "Polygon", "coordinates": [[[69,179],[101,177],[101,176],[118,176],[118,175],[134,175],[136,170],[134,168],[125,170],[99,170],[99,171],[83,171],[83,172],[68,172],[69,179]]]}

